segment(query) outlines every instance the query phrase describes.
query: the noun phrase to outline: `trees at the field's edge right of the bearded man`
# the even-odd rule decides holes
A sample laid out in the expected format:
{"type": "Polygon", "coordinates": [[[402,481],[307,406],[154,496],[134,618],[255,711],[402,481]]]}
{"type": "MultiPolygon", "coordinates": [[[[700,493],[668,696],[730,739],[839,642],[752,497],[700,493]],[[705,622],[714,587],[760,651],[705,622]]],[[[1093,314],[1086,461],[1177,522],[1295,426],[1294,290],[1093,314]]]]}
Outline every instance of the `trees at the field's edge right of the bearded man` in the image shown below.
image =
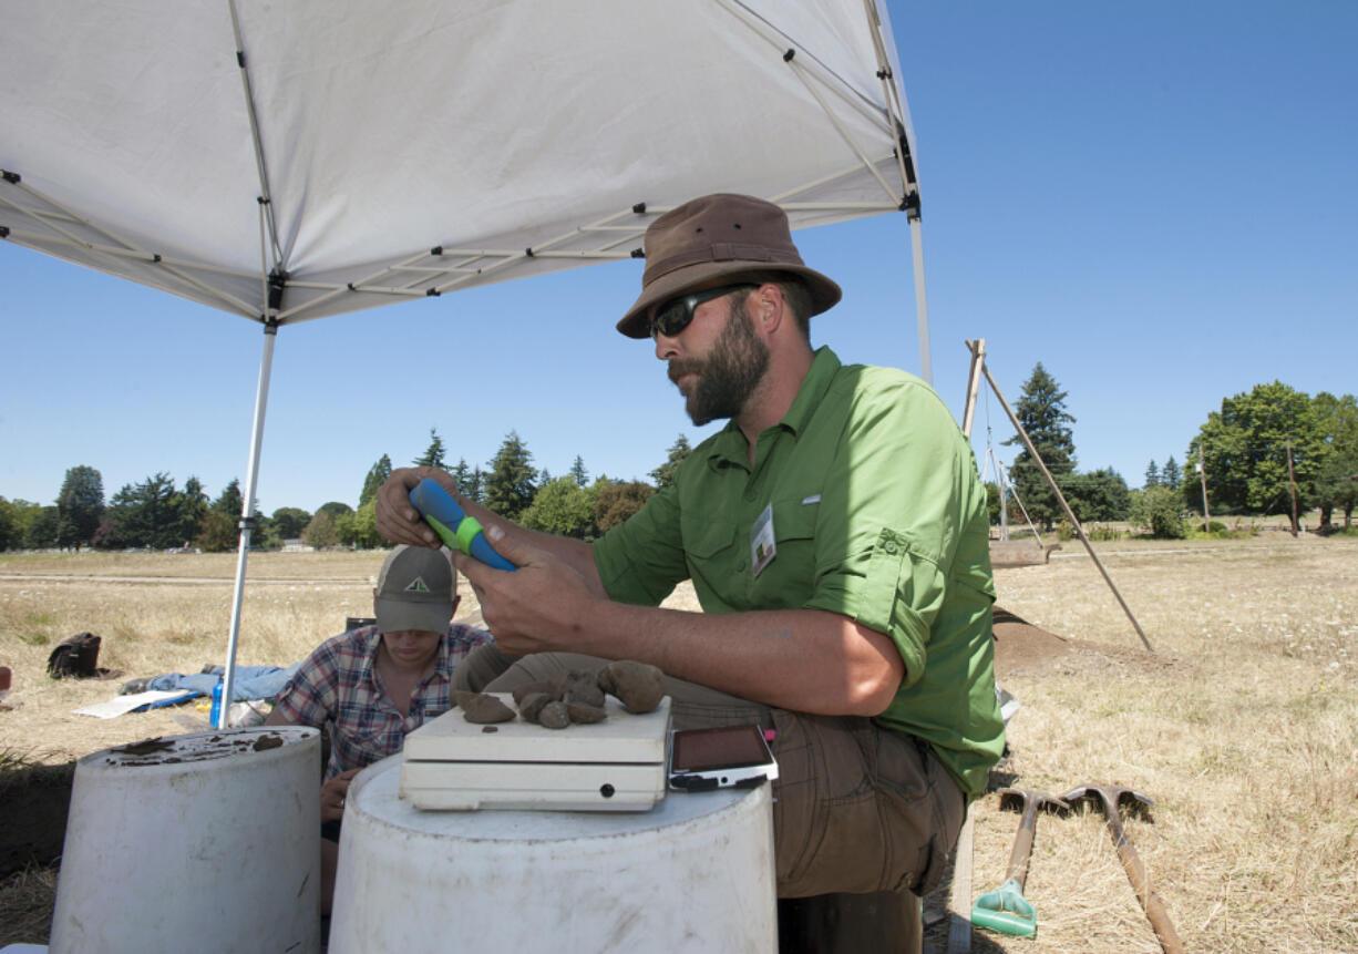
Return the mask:
{"type": "MultiPolygon", "coordinates": [[[[1023,386],[1014,416],[1081,523],[1131,520],[1156,537],[1183,537],[1184,516],[1296,514],[1319,508],[1320,529],[1334,529],[1334,515],[1353,525],[1358,504],[1358,401],[1327,391],[1310,397],[1282,382],[1256,385],[1224,398],[1219,410],[1190,442],[1184,463],[1171,454],[1152,459],[1139,491],[1111,467],[1081,473],[1066,410],[1066,391],[1039,361],[1023,386]],[[1296,499],[1296,508],[1293,500],[1296,499]]],[[[1019,444],[1014,435],[1006,444],[1019,444]]],[[[1047,530],[1063,511],[1027,447],[1008,470],[1017,500],[1009,516],[1047,530]]],[[[991,510],[998,514],[999,488],[991,482],[991,510]]]]}

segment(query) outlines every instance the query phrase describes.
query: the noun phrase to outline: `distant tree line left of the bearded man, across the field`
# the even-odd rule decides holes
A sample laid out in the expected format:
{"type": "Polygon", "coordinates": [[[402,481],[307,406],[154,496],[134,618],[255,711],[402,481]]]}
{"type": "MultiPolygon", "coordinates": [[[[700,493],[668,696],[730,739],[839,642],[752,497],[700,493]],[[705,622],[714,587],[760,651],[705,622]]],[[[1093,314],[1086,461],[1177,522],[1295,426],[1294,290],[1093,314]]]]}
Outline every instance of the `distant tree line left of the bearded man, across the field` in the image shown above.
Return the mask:
{"type": "MultiPolygon", "coordinates": [[[[448,470],[469,497],[524,526],[592,540],[637,512],[659,488],[668,487],[690,451],[689,439],[680,434],[665,462],[649,473],[655,482],[619,481],[604,474],[591,480],[579,455],[569,473],[553,477],[546,469],[534,469],[532,453],[516,431],[505,436],[482,469],[466,459],[449,466],[443,439],[430,428],[429,446],[411,465],[448,470]]],[[[289,540],[320,549],[386,546],[375,507],[378,489],[391,470],[391,458],[383,454],[363,480],[357,508],[331,500],[314,514],[300,507],[262,514],[255,501],[251,544],[263,549],[278,549],[289,540]]],[[[54,504],[0,496],[0,550],[231,550],[239,544],[243,503],[239,480],[210,499],[197,477],[189,477],[181,488],[160,472],[125,484],[105,500],[99,470],[79,465],[67,470],[54,504]]]]}

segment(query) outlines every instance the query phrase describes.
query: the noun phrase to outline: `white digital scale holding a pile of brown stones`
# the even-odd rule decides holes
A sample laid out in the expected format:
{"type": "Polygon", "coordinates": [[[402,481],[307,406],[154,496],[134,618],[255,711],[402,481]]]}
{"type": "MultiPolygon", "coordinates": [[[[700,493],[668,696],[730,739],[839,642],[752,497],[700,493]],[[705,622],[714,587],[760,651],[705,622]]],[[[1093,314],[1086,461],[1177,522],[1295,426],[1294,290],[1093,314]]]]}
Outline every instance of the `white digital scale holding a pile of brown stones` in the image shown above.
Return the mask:
{"type": "Polygon", "coordinates": [[[406,737],[401,798],[441,811],[648,811],[665,795],[669,697],[644,715],[612,696],[604,708],[603,722],[565,728],[517,718],[482,726],[449,709],[406,737]]]}

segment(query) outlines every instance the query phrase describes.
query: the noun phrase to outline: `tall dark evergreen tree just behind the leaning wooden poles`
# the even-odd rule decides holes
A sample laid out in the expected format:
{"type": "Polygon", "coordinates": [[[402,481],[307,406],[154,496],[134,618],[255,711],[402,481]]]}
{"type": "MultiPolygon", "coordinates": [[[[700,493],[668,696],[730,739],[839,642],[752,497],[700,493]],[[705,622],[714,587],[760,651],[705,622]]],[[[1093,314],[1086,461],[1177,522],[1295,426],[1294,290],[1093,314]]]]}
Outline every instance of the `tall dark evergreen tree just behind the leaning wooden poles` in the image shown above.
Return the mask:
{"type": "MultiPolygon", "coordinates": [[[[1074,473],[1076,443],[1066,425],[1073,424],[1076,419],[1066,412],[1066,393],[1061,390],[1057,379],[1047,374],[1042,361],[1038,361],[1032,376],[1024,383],[1014,416],[1028,432],[1028,439],[1032,440],[1038,455],[1058,485],[1062,477],[1074,473]]],[[[1023,438],[1016,434],[1005,443],[1023,444],[1023,438]]],[[[1028,515],[1051,530],[1052,522],[1062,514],[1061,503],[1027,446],[1009,467],[1009,482],[1013,484],[1028,515]]]]}

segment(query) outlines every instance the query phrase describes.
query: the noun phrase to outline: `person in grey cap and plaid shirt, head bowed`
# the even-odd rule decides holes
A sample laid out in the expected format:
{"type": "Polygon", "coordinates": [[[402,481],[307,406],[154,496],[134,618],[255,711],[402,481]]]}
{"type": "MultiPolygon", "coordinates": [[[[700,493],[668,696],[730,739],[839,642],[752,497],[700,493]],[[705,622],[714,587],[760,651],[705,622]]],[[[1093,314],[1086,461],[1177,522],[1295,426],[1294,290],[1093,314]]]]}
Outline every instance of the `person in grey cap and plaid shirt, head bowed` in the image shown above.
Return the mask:
{"type": "Polygon", "coordinates": [[[398,546],[382,564],[372,626],[322,643],[278,693],[269,726],[312,726],[330,739],[320,787],[320,909],[330,913],[340,824],[359,769],[395,754],[406,732],[449,708],[452,670],[490,633],[451,622],[458,575],[444,550],[398,546]]]}

